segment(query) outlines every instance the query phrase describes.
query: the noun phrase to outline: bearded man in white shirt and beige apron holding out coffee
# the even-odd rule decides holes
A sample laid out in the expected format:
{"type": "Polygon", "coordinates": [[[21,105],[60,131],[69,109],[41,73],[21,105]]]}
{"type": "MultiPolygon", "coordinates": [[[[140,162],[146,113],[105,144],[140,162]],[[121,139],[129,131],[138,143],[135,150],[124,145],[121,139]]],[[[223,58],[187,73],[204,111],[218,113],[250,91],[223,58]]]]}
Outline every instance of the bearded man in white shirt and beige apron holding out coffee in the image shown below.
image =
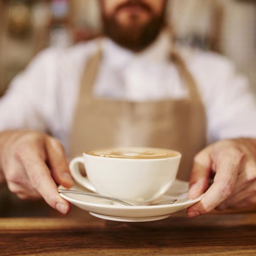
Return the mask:
{"type": "Polygon", "coordinates": [[[74,156],[148,145],[180,150],[183,179],[197,153],[189,197],[206,192],[189,217],[256,204],[256,99],[225,58],[175,49],[166,4],[102,0],[107,38],[47,49],[14,79],[0,101],[0,166],[10,191],[43,197],[65,214],[70,205],[55,184],[73,184],[64,148],[74,156]]]}

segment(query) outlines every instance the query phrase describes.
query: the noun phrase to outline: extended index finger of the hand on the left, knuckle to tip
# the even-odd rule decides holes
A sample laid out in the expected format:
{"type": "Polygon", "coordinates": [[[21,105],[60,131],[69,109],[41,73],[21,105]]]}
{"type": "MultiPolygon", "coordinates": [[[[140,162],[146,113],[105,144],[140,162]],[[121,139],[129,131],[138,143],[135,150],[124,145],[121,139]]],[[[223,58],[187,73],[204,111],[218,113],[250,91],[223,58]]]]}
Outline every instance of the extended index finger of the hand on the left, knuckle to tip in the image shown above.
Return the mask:
{"type": "Polygon", "coordinates": [[[50,171],[40,155],[38,148],[27,148],[26,154],[23,154],[20,160],[32,186],[42,195],[47,204],[66,214],[70,210],[70,204],[59,195],[50,171]]]}

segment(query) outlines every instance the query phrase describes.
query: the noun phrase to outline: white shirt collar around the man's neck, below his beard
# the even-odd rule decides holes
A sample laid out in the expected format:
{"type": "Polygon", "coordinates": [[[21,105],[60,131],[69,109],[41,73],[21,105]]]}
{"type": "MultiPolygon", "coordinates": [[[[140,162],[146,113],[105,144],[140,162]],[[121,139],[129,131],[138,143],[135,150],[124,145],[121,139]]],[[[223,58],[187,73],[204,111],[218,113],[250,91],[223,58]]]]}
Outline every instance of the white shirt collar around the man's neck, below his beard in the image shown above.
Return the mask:
{"type": "Polygon", "coordinates": [[[163,63],[169,57],[170,40],[170,34],[166,31],[162,31],[150,46],[136,53],[119,46],[110,38],[104,38],[102,42],[104,60],[107,61],[111,67],[117,69],[123,68],[131,61],[135,60],[163,63]]]}

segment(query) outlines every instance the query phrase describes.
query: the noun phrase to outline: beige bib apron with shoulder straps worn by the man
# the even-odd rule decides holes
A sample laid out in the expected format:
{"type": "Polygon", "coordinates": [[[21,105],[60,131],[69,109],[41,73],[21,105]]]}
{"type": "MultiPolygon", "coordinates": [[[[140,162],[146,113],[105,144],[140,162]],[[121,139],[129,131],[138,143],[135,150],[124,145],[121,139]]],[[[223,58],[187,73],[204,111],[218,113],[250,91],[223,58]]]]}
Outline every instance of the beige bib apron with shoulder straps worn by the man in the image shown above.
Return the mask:
{"type": "Polygon", "coordinates": [[[70,157],[116,146],[170,148],[182,154],[177,177],[188,180],[192,159],[206,143],[206,118],[197,85],[184,61],[175,52],[170,58],[188,88],[188,98],[128,102],[92,95],[102,52],[99,49],[92,55],[81,79],[70,134],[70,157]]]}

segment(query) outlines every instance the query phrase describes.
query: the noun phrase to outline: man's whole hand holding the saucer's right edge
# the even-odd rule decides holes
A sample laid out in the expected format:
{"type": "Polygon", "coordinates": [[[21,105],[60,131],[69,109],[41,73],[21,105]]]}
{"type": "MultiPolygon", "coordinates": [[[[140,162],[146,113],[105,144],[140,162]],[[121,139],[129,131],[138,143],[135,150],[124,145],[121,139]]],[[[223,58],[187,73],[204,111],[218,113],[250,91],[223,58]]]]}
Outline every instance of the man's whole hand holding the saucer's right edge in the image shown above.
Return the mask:
{"type": "Polygon", "coordinates": [[[256,204],[256,140],[223,140],[199,152],[189,181],[189,198],[205,192],[187,209],[190,218],[217,209],[256,204]],[[207,190],[209,178],[214,177],[207,190]]]}

